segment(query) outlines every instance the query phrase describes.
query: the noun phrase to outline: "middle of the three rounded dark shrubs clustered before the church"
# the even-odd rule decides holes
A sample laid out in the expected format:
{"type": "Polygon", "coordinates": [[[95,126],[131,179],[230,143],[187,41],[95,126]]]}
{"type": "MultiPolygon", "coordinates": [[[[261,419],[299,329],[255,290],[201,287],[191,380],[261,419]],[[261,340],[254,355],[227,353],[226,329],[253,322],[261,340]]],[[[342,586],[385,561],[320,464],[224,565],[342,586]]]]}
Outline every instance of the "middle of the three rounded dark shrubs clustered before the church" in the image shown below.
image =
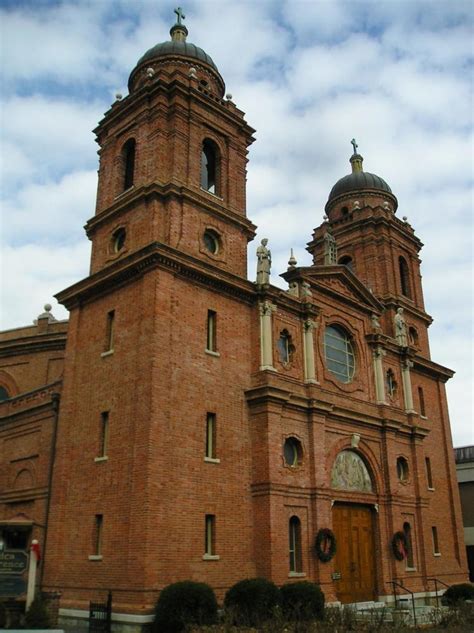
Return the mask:
{"type": "Polygon", "coordinates": [[[270,619],[280,605],[280,591],[265,578],[248,578],[226,593],[224,606],[234,624],[259,626],[270,619]]]}

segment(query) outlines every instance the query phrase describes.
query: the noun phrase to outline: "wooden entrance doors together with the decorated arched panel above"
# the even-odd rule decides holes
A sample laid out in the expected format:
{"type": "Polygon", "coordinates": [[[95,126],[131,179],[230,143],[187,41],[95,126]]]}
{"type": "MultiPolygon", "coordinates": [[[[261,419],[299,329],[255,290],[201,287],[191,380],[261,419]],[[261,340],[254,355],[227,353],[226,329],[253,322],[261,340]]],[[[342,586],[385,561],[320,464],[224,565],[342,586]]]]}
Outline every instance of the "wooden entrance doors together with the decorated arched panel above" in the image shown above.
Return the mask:
{"type": "MultiPolygon", "coordinates": [[[[334,461],[331,486],[335,490],[372,493],[373,484],[364,461],[354,451],[341,451],[334,461]]],[[[334,586],[338,600],[366,602],[376,596],[375,525],[373,506],[348,501],[332,509],[336,536],[334,586]]]]}

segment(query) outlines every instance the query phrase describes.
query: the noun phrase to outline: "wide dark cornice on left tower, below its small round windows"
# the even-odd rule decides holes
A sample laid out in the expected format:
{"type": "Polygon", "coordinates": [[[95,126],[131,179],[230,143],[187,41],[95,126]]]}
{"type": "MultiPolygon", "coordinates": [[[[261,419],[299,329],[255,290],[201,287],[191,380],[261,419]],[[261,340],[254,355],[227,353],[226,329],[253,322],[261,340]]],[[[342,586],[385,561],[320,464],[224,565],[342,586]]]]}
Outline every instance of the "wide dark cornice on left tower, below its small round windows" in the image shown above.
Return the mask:
{"type": "Polygon", "coordinates": [[[152,242],[110,264],[59,292],[55,297],[71,310],[83,302],[91,301],[134,281],[154,268],[168,270],[174,275],[203,286],[211,286],[246,303],[256,301],[255,285],[251,282],[159,242],[152,242]]]}

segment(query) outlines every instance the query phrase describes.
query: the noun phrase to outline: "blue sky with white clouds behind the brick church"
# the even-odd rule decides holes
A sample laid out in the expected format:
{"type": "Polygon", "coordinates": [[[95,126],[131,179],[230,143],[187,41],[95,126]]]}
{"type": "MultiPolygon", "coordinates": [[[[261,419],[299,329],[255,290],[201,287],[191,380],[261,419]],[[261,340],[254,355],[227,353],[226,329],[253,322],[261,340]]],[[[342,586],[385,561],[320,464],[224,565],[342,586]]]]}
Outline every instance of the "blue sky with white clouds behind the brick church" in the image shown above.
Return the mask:
{"type": "MultiPolygon", "coordinates": [[[[183,0],[184,4],[184,0],[183,0]]],[[[141,55],[169,39],[166,0],[0,0],[1,321],[32,322],[88,274],[94,214],[91,130],[127,94],[141,55]]],[[[384,178],[425,244],[422,275],[433,360],[447,385],[455,446],[474,443],[473,13],[471,1],[186,1],[188,41],[217,64],[256,128],[248,165],[249,246],[267,237],[272,283],[306,243],[333,184],[384,178]]]]}

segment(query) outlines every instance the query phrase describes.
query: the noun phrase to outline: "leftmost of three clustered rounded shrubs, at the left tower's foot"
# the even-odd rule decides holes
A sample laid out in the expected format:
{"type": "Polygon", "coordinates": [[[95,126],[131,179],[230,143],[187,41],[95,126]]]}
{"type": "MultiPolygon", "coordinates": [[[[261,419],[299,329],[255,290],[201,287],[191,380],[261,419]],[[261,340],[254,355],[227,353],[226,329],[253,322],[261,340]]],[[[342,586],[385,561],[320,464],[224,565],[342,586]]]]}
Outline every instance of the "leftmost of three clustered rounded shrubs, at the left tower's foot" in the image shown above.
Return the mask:
{"type": "Polygon", "coordinates": [[[168,585],[155,607],[155,632],[178,633],[189,625],[206,626],[217,620],[214,591],[202,582],[185,580],[168,585]]]}

